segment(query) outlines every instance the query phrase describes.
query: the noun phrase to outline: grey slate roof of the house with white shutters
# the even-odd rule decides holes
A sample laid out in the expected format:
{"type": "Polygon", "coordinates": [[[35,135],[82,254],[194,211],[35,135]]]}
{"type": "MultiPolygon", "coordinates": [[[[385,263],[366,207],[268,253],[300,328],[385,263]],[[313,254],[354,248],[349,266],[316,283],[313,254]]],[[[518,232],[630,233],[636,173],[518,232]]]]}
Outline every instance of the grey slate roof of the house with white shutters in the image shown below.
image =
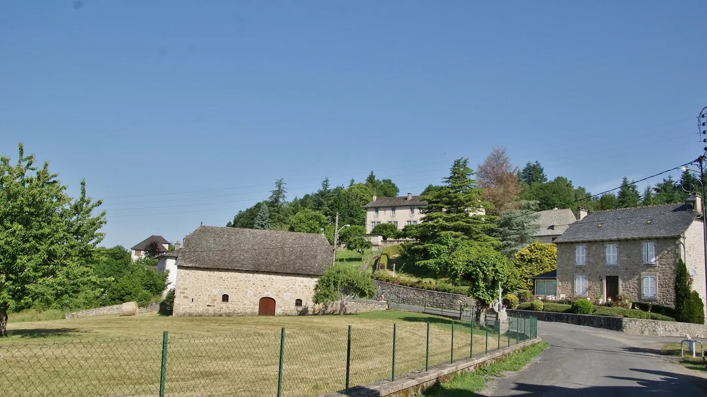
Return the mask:
{"type": "Polygon", "coordinates": [[[570,225],[554,242],[677,237],[698,216],[699,211],[687,211],[684,204],[597,211],[570,225]]]}

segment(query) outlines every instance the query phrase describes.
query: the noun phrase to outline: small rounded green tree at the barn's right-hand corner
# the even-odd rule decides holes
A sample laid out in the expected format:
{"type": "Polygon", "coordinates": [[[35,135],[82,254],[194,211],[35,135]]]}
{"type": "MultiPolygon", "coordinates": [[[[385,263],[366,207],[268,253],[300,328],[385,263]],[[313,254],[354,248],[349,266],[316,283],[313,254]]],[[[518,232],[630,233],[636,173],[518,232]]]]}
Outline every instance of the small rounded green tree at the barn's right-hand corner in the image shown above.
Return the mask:
{"type": "Polygon", "coordinates": [[[373,297],[375,286],[368,275],[347,266],[332,266],[317,280],[312,302],[325,304],[339,300],[339,314],[344,314],[346,297],[373,297]]]}

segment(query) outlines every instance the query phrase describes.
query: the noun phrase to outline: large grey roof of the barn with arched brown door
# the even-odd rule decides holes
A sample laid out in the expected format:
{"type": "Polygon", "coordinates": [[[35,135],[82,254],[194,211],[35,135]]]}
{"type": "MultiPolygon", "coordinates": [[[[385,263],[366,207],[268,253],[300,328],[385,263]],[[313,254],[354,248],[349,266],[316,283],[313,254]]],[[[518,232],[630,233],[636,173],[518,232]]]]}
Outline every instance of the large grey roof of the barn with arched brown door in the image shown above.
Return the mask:
{"type": "Polygon", "coordinates": [[[177,266],[322,275],[332,246],[316,233],[199,226],[184,239],[177,266]]]}

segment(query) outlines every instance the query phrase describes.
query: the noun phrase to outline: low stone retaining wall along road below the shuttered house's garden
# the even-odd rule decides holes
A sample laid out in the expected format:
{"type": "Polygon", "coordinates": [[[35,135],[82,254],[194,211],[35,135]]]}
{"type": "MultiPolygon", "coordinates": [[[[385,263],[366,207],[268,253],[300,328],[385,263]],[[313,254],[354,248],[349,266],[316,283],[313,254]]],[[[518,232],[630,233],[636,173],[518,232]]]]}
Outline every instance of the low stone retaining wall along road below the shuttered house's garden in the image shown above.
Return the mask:
{"type": "Polygon", "coordinates": [[[707,326],[702,324],[679,323],[677,321],[659,321],[645,319],[628,319],[626,317],[593,316],[591,314],[531,312],[529,310],[510,310],[514,316],[535,316],[539,321],[575,324],[605,328],[612,331],[631,333],[632,335],[648,336],[685,336],[707,338],[707,326]]]}

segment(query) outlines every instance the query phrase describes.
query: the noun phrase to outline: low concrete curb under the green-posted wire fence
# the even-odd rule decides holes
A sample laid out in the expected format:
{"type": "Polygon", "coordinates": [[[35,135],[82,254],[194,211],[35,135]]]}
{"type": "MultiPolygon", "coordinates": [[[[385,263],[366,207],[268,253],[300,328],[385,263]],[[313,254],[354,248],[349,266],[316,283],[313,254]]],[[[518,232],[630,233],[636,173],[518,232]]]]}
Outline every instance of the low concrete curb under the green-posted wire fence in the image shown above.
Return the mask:
{"type": "Polygon", "coordinates": [[[470,359],[467,358],[466,360],[462,359],[453,364],[435,365],[430,367],[427,372],[423,370],[408,372],[407,374],[402,374],[397,377],[395,381],[375,381],[367,385],[351,387],[348,392],[339,391],[321,397],[414,396],[423,393],[423,391],[438,382],[450,381],[455,374],[472,372],[476,367],[489,365],[492,362],[505,358],[517,350],[540,342],[542,342],[540,338],[525,340],[509,348],[501,348],[501,350],[478,355],[470,359]]]}

